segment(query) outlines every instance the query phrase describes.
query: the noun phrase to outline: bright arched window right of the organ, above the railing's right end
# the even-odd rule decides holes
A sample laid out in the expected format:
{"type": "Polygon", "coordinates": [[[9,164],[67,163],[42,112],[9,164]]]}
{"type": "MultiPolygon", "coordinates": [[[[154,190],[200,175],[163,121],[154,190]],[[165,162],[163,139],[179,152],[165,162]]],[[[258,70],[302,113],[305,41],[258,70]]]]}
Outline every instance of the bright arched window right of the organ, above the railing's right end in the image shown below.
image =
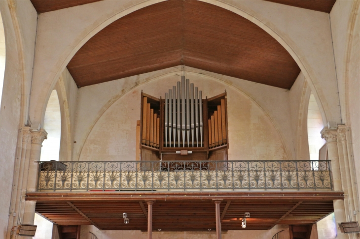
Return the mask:
{"type": "Polygon", "coordinates": [[[322,149],[325,144],[325,140],[321,138],[320,133],[324,128],[324,123],[318,103],[316,102],[313,93],[311,93],[309,99],[307,128],[310,160],[319,160],[319,150],[322,149]]]}

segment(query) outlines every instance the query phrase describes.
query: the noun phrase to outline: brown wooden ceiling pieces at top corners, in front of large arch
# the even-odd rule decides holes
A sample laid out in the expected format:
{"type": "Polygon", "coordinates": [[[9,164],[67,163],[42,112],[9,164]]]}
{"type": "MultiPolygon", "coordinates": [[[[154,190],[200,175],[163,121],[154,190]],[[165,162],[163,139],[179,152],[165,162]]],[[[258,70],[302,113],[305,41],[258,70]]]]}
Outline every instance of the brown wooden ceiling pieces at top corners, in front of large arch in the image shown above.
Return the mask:
{"type": "MultiPolygon", "coordinates": [[[[101,0],[31,0],[37,13],[50,12],[101,0]]],[[[336,0],[267,0],[315,11],[331,11],[336,0]]]]}

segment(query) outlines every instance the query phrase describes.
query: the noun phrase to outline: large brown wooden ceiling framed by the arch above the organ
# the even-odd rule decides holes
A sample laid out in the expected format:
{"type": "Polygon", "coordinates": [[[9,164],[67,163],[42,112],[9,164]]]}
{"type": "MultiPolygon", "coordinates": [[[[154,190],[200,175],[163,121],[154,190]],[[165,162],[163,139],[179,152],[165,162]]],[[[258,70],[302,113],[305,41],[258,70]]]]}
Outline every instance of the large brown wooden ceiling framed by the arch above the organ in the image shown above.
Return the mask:
{"type": "Polygon", "coordinates": [[[284,89],[300,73],[264,30],[197,0],[168,0],[120,18],[86,42],[68,69],[84,87],[181,64],[284,89]]]}

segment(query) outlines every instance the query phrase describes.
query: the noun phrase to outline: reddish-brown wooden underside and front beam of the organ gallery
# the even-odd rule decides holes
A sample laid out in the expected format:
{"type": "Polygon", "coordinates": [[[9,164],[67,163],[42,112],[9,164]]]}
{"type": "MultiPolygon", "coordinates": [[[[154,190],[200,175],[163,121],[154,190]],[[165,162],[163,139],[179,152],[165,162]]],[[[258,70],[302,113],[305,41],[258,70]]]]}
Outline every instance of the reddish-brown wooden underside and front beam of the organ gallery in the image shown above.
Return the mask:
{"type": "Polygon", "coordinates": [[[153,204],[153,230],[208,231],[216,229],[214,198],[220,204],[223,231],[244,230],[241,220],[251,213],[246,230],[268,230],[276,224],[311,224],[333,211],[339,192],[97,192],[27,193],[36,211],[52,222],[95,225],[101,230],[147,230],[145,199],[153,204]],[[186,194],[184,194],[186,193],[186,194]],[[96,195],[96,197],[95,197],[96,195]],[[165,199],[166,195],[166,199],[165,199]],[[124,224],[122,213],[130,219],[124,224]]]}

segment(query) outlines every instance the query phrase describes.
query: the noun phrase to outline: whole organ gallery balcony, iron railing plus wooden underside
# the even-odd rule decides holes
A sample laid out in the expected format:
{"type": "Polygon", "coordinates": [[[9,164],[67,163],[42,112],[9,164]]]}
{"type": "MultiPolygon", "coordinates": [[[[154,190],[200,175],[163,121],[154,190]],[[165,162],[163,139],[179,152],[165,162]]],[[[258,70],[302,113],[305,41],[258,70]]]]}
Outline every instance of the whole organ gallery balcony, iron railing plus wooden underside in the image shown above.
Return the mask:
{"type": "Polygon", "coordinates": [[[334,210],[333,200],[344,193],[333,190],[330,166],[265,160],[39,162],[37,191],[27,192],[26,200],[36,201],[36,212],[60,226],[146,231],[151,222],[163,231],[208,231],[221,220],[224,231],[243,230],[249,212],[245,229],[267,230],[315,223],[334,210]]]}

